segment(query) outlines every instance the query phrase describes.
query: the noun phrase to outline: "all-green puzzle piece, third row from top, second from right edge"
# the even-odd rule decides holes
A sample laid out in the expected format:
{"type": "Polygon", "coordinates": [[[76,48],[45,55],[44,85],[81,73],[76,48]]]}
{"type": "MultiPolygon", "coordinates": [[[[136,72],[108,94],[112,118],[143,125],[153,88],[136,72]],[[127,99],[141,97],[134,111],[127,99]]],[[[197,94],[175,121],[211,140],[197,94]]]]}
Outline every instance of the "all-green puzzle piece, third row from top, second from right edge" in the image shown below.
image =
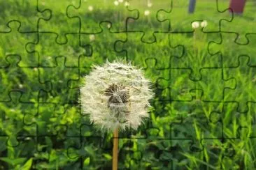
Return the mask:
{"type": "Polygon", "coordinates": [[[224,96],[221,91],[225,88],[235,88],[235,79],[230,77],[224,79],[222,76],[222,69],[217,68],[204,68],[200,70],[202,76],[199,81],[194,81],[191,76],[192,70],[190,68],[184,69],[171,69],[170,79],[157,79],[159,88],[163,89],[164,96],[167,96],[167,100],[177,101],[191,101],[193,95],[195,98],[205,101],[221,101],[224,96]],[[180,76],[182,75],[182,76],[180,76]],[[212,84],[212,79],[218,79],[219,86],[212,84]],[[213,93],[220,91],[220,93],[213,93]]]}

